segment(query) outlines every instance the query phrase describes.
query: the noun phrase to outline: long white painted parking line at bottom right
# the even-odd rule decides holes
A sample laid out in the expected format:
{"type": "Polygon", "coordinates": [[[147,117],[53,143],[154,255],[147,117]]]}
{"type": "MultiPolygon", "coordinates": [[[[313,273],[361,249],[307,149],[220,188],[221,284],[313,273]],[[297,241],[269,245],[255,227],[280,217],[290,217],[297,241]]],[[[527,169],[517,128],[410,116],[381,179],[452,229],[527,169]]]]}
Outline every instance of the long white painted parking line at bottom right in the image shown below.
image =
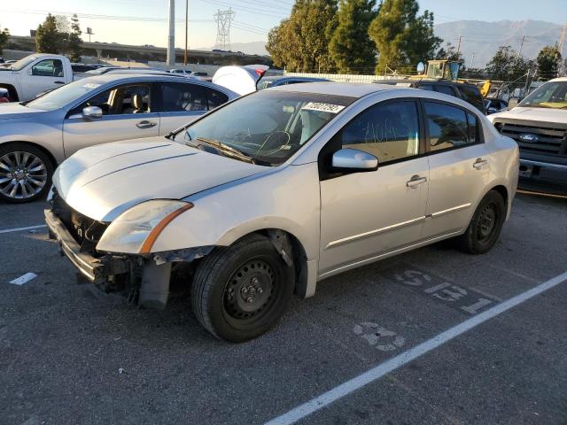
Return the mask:
{"type": "Polygon", "coordinates": [[[548,282],[543,282],[535,288],[532,288],[531,290],[526,290],[516,297],[509,298],[499,305],[494,305],[492,308],[485,310],[483,313],[478,313],[476,316],[471,317],[469,320],[463,321],[453,328],[449,328],[446,331],[441,332],[438,336],[434,336],[433,338],[423,342],[422,344],[418,344],[415,347],[410,348],[408,351],[402,352],[392,359],[389,359],[384,363],[377,365],[377,367],[373,367],[367,372],[364,372],[363,374],[358,375],[349,381],[346,381],[346,383],[341,383],[332,390],[329,390],[322,395],[307,401],[303,405],[297,406],[291,409],[289,412],[283,413],[275,419],[266,422],[265,425],[288,425],[295,423],[296,421],[305,418],[311,413],[315,413],[323,407],[329,406],[339,398],[343,398],[356,390],[360,390],[362,387],[368,385],[369,383],[377,381],[384,375],[388,375],[390,372],[398,369],[399,367],[402,367],[409,362],[417,359],[418,357],[423,356],[423,354],[435,350],[440,345],[451,341],[455,337],[464,334],[465,332],[477,327],[485,321],[489,321],[494,317],[500,315],[501,313],[507,312],[509,309],[514,308],[517,305],[524,303],[524,301],[527,301],[528,299],[533,298],[546,290],[550,290],[551,288],[563,282],[567,282],[567,272],[559,274],[553,279],[548,280],[548,282]]]}

